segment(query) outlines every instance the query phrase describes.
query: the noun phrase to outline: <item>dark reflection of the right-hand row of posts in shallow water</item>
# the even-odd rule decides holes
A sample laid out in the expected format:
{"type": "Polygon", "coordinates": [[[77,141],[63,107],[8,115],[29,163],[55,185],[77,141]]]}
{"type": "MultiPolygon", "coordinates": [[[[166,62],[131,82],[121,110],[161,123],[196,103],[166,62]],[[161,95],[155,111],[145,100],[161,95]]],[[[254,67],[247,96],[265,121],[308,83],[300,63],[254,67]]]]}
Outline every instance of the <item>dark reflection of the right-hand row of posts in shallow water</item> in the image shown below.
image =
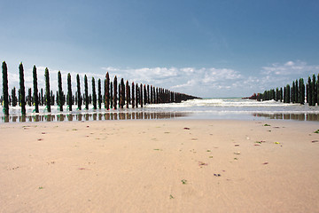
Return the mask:
{"type": "Polygon", "coordinates": [[[319,114],[253,114],[255,117],[266,117],[268,119],[276,120],[295,120],[295,121],[309,121],[318,122],[319,114]]]}

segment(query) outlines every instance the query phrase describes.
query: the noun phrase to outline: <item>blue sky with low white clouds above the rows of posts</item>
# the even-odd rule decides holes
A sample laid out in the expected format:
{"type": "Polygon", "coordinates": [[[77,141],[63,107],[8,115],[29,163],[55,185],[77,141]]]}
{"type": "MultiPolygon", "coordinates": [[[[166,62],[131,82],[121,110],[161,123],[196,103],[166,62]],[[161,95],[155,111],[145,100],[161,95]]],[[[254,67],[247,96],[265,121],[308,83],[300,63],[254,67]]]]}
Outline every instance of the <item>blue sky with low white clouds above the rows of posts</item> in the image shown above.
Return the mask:
{"type": "MultiPolygon", "coordinates": [[[[0,59],[200,97],[245,97],[319,73],[319,1],[1,1],[0,59]]],[[[2,84],[2,79],[0,80],[2,84]]],[[[65,87],[66,85],[64,85],[65,87]]],[[[75,86],[75,81],[74,81],[75,86]]],[[[66,87],[65,87],[66,88],[66,87]]]]}

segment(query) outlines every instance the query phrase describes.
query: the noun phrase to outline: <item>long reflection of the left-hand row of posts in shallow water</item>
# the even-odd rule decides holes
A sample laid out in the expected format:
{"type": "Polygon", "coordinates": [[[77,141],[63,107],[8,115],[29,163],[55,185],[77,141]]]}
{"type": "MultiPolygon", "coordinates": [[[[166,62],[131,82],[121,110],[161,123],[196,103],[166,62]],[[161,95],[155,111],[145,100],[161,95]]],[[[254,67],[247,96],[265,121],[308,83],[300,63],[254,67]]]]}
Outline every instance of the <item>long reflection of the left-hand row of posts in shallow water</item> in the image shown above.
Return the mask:
{"type": "Polygon", "coordinates": [[[2,117],[2,122],[73,122],[73,121],[109,121],[109,120],[152,120],[171,119],[187,116],[186,113],[158,112],[106,112],[94,114],[35,114],[9,115],[2,117]]]}

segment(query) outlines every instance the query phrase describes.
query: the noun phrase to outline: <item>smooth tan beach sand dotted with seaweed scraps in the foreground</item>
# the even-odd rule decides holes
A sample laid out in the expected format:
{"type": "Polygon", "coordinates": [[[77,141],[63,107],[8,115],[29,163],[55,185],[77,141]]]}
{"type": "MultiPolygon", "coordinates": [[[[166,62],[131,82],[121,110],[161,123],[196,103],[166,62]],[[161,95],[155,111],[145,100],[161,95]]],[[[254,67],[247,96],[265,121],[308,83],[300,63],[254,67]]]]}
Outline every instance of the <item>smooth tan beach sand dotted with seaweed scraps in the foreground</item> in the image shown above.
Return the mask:
{"type": "Polygon", "coordinates": [[[0,212],[319,212],[318,129],[284,121],[4,123],[0,212]]]}

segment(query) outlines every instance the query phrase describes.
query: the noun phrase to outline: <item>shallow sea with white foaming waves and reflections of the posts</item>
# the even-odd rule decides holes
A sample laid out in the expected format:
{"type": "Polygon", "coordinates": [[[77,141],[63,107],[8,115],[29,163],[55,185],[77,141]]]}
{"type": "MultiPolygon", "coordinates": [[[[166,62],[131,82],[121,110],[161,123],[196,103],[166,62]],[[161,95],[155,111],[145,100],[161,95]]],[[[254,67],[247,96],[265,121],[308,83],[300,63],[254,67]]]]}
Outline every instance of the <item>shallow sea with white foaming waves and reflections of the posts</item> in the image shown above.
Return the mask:
{"type": "Polygon", "coordinates": [[[142,119],[223,119],[223,120],[293,120],[300,122],[319,122],[319,106],[287,104],[280,101],[256,101],[252,99],[191,99],[182,103],[150,104],[144,107],[106,110],[77,109],[58,111],[58,106],[51,106],[48,113],[45,106],[40,106],[40,113],[35,113],[35,106],[26,106],[27,114],[21,115],[19,106],[10,107],[10,115],[4,116],[1,110],[0,122],[74,122],[107,120],[142,120],[142,119]]]}

